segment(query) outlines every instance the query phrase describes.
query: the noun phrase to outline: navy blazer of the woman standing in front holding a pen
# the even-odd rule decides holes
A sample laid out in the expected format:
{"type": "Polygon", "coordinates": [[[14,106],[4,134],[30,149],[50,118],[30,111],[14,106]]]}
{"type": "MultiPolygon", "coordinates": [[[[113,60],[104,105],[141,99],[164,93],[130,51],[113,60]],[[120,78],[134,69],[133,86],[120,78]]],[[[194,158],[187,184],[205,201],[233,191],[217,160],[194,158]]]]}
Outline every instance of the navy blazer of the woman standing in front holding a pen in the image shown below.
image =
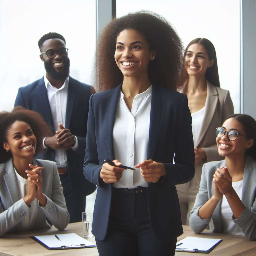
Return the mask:
{"type": "MultiPolygon", "coordinates": [[[[99,173],[104,159],[115,159],[112,131],[121,86],[93,94],[89,102],[83,172],[98,186],[92,232],[99,240],[106,237],[112,194],[112,184],[105,184],[99,173]]],[[[147,158],[162,162],[168,175],[148,183],[148,210],[153,232],[162,241],[183,233],[175,185],[195,173],[191,122],[186,95],[153,84],[147,158]]]]}

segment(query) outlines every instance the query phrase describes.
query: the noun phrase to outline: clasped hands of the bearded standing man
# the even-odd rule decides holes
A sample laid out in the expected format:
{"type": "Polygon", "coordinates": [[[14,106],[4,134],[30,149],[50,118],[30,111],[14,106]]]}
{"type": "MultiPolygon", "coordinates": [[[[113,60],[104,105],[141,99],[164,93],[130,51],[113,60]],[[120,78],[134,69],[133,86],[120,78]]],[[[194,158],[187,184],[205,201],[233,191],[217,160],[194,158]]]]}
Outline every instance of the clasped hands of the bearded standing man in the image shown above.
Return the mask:
{"type": "Polygon", "coordinates": [[[45,146],[53,149],[68,150],[75,145],[75,140],[69,129],[65,129],[62,124],[59,124],[60,130],[51,137],[45,138],[45,146]]]}

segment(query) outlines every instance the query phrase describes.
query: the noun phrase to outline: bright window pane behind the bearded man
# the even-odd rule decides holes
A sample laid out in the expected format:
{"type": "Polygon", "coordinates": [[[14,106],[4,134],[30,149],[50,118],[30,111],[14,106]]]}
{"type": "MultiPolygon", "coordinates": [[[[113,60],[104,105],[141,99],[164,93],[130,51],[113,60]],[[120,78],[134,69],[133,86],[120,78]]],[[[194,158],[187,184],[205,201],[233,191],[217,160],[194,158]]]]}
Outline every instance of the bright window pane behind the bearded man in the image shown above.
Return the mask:
{"type": "Polygon", "coordinates": [[[37,42],[48,32],[65,37],[70,75],[91,84],[95,0],[0,0],[0,111],[13,108],[19,87],[44,75],[37,42]]]}

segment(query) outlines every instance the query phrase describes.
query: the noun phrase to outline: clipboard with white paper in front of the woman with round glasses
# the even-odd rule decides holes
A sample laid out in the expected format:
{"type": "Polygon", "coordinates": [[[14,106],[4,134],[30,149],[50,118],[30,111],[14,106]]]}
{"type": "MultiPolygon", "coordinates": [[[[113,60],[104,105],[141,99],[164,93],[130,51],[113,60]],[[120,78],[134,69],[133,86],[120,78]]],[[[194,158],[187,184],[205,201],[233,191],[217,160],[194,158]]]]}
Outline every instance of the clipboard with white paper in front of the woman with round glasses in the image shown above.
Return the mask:
{"type": "Polygon", "coordinates": [[[221,241],[221,239],[213,238],[185,237],[184,239],[177,242],[175,251],[209,253],[221,241]]]}

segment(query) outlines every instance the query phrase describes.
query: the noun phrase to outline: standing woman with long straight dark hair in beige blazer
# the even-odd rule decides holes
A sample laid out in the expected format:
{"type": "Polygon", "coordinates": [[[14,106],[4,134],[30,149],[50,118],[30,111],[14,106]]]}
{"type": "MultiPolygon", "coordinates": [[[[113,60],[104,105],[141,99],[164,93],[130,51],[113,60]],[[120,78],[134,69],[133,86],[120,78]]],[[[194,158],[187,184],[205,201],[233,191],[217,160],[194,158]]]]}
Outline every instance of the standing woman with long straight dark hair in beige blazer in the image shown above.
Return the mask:
{"type": "Polygon", "coordinates": [[[234,110],[229,91],[220,88],[216,51],[208,39],[196,38],[188,44],[183,59],[183,74],[185,82],[178,90],[188,97],[196,169],[190,182],[176,186],[182,224],[186,225],[187,215],[198,193],[202,165],[222,159],[211,131],[234,110]]]}

